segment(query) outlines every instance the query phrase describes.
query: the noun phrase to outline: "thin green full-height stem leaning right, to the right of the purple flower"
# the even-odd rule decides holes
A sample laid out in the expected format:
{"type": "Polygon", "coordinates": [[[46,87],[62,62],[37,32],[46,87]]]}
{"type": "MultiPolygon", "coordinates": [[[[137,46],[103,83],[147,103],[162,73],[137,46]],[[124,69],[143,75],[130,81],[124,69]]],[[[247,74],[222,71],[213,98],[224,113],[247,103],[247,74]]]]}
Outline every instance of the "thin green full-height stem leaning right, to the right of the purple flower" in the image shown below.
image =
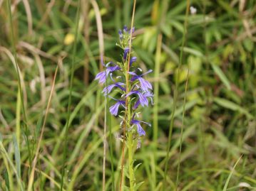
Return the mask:
{"type": "Polygon", "coordinates": [[[186,35],[187,35],[189,7],[190,7],[190,0],[187,0],[185,21],[184,21],[183,40],[182,40],[182,45],[181,45],[181,50],[180,50],[180,59],[179,59],[179,64],[178,64],[177,77],[175,79],[175,90],[174,90],[174,95],[173,95],[173,111],[172,111],[171,118],[170,118],[170,128],[169,128],[169,135],[168,135],[168,146],[167,146],[167,149],[166,149],[167,154],[166,154],[166,157],[165,157],[165,172],[164,172],[164,181],[163,181],[163,189],[162,190],[165,190],[165,187],[166,187],[168,161],[169,161],[169,155],[170,155],[170,143],[171,143],[171,138],[172,138],[172,134],[173,134],[174,114],[175,114],[175,109],[176,109],[176,104],[177,104],[177,99],[178,99],[178,86],[180,84],[180,82],[179,82],[180,66],[182,65],[183,48],[184,48],[184,45],[185,45],[185,38],[186,38],[186,35]]]}

